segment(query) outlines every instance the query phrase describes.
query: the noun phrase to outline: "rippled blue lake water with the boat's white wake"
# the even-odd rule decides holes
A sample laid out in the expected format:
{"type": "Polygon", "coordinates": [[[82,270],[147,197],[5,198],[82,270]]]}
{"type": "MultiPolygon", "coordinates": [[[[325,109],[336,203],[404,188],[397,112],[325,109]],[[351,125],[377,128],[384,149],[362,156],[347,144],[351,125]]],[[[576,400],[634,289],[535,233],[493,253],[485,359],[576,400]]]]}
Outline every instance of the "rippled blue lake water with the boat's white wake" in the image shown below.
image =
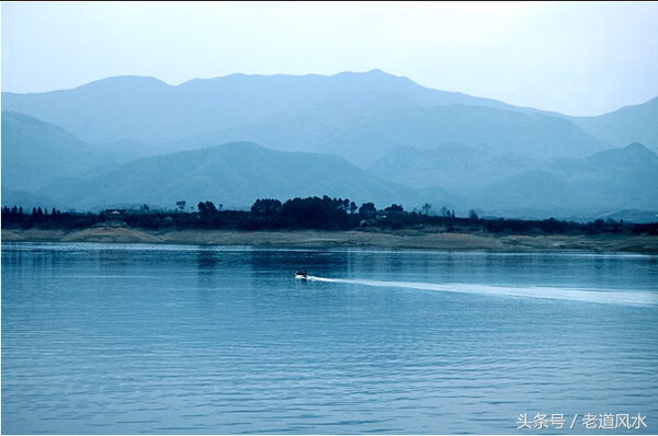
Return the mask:
{"type": "Polygon", "coordinates": [[[606,432],[587,414],[658,433],[658,256],[2,244],[3,434],[606,432]]]}

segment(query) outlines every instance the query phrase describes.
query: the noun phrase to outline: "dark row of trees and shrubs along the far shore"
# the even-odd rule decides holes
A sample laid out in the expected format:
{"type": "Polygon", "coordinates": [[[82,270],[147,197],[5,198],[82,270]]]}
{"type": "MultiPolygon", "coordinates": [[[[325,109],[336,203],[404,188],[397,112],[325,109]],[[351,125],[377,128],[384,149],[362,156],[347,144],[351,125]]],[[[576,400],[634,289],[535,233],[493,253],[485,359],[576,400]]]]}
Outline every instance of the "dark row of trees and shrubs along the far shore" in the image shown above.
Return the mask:
{"type": "Polygon", "coordinates": [[[138,210],[109,209],[98,214],[63,213],[53,208],[49,213],[41,207],[31,213],[21,207],[2,208],[2,228],[61,228],[79,229],[98,222],[114,221],[135,228],[160,229],[322,229],[351,230],[358,228],[422,228],[434,227],[456,232],[509,232],[509,233],[611,233],[634,232],[658,234],[658,222],[635,225],[615,220],[595,220],[587,223],[545,220],[481,219],[475,210],[461,218],[454,210],[443,207],[439,215],[429,215],[430,204],[421,211],[405,211],[393,204],[377,209],[374,203],[356,206],[348,198],[320,197],[293,198],[281,203],[275,198],[259,198],[250,210],[223,210],[223,205],[200,202],[196,211],[185,211],[185,202],[177,203],[177,210],[161,211],[143,205],[138,210]]]}

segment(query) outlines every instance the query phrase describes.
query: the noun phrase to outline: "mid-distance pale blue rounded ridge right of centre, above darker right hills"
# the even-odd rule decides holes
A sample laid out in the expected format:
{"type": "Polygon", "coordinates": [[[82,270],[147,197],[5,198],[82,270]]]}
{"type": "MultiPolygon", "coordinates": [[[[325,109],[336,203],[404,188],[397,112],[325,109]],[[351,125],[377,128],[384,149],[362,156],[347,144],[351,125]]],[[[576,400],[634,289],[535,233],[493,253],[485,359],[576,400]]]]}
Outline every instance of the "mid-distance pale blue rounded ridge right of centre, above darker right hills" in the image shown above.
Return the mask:
{"type": "Polygon", "coordinates": [[[317,148],[368,164],[397,146],[427,150],[445,142],[537,159],[585,157],[608,148],[558,117],[465,105],[387,110],[322,138],[317,148]]]}

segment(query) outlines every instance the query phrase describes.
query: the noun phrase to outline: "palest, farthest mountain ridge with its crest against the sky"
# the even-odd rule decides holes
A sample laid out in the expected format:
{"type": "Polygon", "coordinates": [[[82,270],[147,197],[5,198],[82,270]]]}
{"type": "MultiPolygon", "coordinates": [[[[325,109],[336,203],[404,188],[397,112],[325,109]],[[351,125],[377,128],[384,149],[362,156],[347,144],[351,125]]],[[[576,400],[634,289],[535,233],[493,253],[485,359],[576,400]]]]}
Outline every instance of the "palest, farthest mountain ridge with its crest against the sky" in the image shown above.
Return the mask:
{"type": "Polygon", "coordinates": [[[427,89],[379,70],[330,77],[231,74],[178,87],[126,76],[65,91],[2,93],[2,110],[56,124],[89,142],[168,142],[334,102],[355,105],[356,117],[408,105],[513,108],[495,100],[427,89]]]}

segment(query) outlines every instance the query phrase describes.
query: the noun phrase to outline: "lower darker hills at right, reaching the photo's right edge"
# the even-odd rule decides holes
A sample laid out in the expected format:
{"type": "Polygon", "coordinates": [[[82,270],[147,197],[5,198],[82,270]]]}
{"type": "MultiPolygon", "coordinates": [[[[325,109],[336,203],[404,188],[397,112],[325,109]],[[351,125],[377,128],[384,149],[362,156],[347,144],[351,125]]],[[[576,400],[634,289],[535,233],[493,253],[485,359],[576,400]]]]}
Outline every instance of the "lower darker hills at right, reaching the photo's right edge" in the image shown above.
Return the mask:
{"type": "Polygon", "coordinates": [[[416,188],[441,186],[470,207],[506,216],[658,210],[658,156],[640,144],[551,160],[513,160],[460,144],[397,148],[368,171],[416,188]]]}

